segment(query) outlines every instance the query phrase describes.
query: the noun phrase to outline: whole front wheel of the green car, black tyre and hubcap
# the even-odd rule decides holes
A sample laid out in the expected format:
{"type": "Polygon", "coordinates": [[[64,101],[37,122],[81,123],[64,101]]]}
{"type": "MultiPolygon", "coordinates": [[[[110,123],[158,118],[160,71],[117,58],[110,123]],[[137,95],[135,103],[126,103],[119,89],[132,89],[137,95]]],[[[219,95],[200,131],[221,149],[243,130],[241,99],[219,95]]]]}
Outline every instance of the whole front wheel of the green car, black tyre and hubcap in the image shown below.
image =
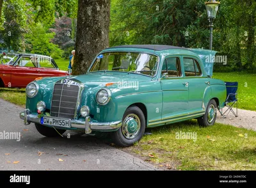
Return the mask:
{"type": "Polygon", "coordinates": [[[145,127],[143,112],[139,107],[131,106],[124,113],[122,127],[112,133],[112,139],[118,146],[132,146],[143,137],[145,127]]]}

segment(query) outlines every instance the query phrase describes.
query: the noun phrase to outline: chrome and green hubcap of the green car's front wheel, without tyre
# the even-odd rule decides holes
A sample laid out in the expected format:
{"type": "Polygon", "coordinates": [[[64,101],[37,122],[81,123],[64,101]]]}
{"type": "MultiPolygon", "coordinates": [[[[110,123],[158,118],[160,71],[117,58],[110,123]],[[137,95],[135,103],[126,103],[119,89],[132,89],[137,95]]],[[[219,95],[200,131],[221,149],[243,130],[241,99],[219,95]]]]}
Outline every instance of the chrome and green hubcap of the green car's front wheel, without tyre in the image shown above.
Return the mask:
{"type": "Polygon", "coordinates": [[[129,114],[124,118],[122,133],[126,139],[134,139],[140,132],[140,118],[136,114],[129,114]]]}

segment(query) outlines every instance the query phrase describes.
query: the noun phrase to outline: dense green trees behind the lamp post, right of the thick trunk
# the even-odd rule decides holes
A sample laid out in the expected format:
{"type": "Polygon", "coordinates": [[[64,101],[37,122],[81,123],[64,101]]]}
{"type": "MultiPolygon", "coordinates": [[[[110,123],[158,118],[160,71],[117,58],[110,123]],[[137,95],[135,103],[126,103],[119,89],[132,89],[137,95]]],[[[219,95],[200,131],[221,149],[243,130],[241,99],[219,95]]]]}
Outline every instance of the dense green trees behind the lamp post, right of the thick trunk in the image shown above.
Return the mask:
{"type": "MultiPolygon", "coordinates": [[[[166,44],[209,49],[205,0],[113,0],[110,45],[166,44]]],[[[256,2],[221,1],[213,49],[227,56],[225,70],[256,72],[256,2]]],[[[223,67],[216,65],[215,70],[223,67]]]]}

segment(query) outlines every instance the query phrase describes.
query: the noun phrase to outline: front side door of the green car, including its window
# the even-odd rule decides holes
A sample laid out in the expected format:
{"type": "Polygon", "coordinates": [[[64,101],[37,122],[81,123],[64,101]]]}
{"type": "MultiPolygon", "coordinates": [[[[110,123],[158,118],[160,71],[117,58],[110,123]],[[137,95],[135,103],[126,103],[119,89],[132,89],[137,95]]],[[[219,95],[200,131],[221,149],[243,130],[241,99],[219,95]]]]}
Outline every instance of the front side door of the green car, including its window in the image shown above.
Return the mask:
{"type": "Polygon", "coordinates": [[[162,120],[186,114],[188,110],[188,84],[182,79],[180,58],[164,59],[161,79],[163,90],[162,120]]]}

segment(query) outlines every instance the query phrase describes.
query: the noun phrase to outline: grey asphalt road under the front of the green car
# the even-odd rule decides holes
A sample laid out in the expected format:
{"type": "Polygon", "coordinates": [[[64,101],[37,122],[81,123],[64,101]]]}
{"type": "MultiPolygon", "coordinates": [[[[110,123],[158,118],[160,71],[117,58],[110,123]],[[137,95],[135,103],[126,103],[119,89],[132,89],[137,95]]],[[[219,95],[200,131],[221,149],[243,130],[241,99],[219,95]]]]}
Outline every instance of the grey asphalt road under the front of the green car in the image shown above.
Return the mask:
{"type": "Polygon", "coordinates": [[[33,123],[27,126],[23,124],[19,118],[22,110],[0,99],[0,170],[157,169],[81,132],[67,131],[64,137],[44,137],[37,132],[33,123]],[[17,132],[18,135],[20,132],[20,141],[3,136],[10,132],[17,132]],[[67,138],[67,133],[70,133],[70,138],[67,138]]]}

